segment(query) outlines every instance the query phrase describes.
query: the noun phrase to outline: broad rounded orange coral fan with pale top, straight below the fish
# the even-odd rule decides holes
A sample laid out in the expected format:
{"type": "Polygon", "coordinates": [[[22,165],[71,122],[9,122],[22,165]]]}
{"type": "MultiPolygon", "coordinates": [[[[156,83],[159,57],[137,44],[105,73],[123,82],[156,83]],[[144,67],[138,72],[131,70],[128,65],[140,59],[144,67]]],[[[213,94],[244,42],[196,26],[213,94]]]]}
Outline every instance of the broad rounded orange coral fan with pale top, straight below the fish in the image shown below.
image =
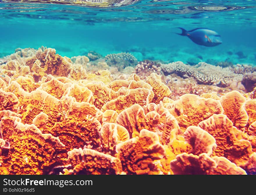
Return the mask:
{"type": "Polygon", "coordinates": [[[209,118],[213,114],[223,113],[219,101],[211,98],[200,98],[198,95],[182,95],[175,103],[171,112],[178,120],[179,126],[186,129],[189,126],[197,126],[199,122],[209,118]]]}

